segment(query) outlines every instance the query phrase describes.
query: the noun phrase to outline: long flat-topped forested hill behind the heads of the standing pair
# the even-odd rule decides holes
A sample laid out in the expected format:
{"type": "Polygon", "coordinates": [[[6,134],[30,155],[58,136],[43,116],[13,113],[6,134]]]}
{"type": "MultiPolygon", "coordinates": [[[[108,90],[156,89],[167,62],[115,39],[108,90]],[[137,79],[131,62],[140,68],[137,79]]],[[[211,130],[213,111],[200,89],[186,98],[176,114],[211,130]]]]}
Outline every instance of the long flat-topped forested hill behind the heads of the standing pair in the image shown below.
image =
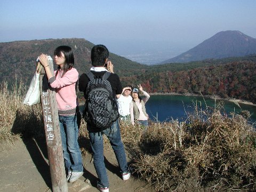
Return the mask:
{"type": "MultiPolygon", "coordinates": [[[[45,39],[33,41],[17,41],[0,43],[0,82],[7,81],[12,84],[17,77],[26,85],[29,85],[35,73],[35,60],[41,54],[51,55],[54,49],[60,45],[68,45],[72,48],[75,57],[75,68],[79,74],[88,71],[91,66],[91,49],[93,43],[80,38],[45,39]]],[[[109,59],[115,64],[115,72],[119,76],[139,73],[145,69],[145,65],[133,62],[124,57],[110,53],[109,59]]]]}

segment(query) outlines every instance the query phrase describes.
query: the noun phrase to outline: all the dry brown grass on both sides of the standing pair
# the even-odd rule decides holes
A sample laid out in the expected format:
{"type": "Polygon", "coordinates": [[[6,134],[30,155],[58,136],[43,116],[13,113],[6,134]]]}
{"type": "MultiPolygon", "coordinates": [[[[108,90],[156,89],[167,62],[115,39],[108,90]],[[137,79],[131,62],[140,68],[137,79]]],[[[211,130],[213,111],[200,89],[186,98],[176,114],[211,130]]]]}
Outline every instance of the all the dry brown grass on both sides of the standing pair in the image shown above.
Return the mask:
{"type": "MultiPolygon", "coordinates": [[[[22,84],[1,84],[1,143],[19,137],[44,137],[41,105],[22,104],[22,84]]],[[[247,123],[250,114],[227,115],[220,106],[201,109],[195,103],[186,121],[154,123],[148,130],[121,124],[134,175],[156,191],[254,191],[256,189],[256,133],[247,123]]],[[[104,142],[109,143],[105,138],[104,142]]],[[[1,144],[2,145],[2,144],[1,144]]],[[[91,154],[86,123],[82,120],[79,145],[91,154]]],[[[110,146],[105,145],[105,149],[110,146]]]]}

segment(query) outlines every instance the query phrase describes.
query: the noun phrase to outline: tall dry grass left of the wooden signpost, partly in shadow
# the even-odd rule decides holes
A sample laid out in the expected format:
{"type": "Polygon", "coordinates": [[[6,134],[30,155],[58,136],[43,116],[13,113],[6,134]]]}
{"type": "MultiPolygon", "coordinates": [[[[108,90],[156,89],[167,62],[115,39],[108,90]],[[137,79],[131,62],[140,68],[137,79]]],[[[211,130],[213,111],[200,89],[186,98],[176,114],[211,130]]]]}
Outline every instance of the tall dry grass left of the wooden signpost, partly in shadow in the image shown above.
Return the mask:
{"type": "Polygon", "coordinates": [[[8,84],[0,84],[0,142],[1,145],[13,143],[20,137],[43,137],[41,105],[25,106],[25,87],[22,82],[15,82],[8,89],[8,84]]]}

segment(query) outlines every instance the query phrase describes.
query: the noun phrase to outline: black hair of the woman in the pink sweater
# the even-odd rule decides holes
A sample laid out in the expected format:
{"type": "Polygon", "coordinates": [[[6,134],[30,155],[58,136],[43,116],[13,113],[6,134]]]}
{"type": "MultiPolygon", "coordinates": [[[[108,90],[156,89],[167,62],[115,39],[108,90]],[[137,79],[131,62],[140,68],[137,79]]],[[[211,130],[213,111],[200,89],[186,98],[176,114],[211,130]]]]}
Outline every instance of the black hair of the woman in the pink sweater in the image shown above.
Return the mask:
{"type": "MultiPolygon", "coordinates": [[[[71,50],[71,47],[66,45],[58,46],[54,51],[54,56],[57,55],[58,57],[61,57],[61,53],[63,53],[65,57],[65,63],[63,66],[63,74],[65,74],[69,69],[71,69],[74,66],[74,54],[71,50]]],[[[57,76],[59,70],[60,66],[58,66],[57,73],[55,74],[55,76],[57,76]]]]}

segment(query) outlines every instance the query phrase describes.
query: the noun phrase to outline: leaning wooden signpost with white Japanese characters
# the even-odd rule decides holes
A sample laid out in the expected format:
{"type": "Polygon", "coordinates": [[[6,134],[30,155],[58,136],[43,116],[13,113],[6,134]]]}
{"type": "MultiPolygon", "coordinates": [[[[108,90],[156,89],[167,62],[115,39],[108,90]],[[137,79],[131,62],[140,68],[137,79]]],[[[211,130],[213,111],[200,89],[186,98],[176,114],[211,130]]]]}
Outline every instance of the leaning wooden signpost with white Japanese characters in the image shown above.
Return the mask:
{"type": "MultiPolygon", "coordinates": [[[[48,65],[53,74],[53,61],[48,57],[48,65]]],[[[41,105],[44,118],[44,130],[51,173],[52,191],[68,191],[65,166],[63,160],[59,116],[55,91],[48,86],[46,75],[40,74],[41,105]]]]}

